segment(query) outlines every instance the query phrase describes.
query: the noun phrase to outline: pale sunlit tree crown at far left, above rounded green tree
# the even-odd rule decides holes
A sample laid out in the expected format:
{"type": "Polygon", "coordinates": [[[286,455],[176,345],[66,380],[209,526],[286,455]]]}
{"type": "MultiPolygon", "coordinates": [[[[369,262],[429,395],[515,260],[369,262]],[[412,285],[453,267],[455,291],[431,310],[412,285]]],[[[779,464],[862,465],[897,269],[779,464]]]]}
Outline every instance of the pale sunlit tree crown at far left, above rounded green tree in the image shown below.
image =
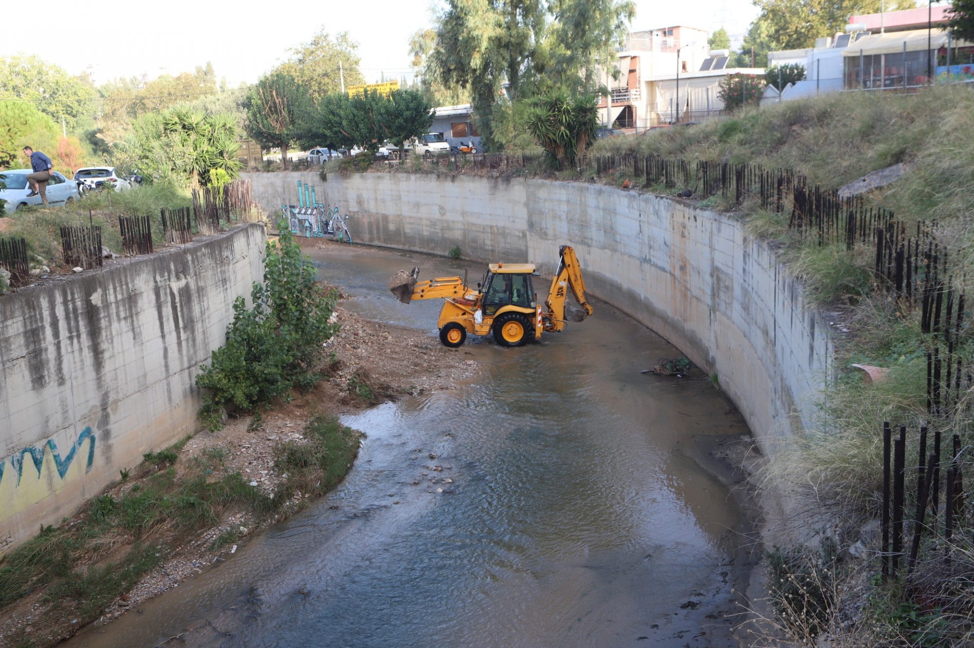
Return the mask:
{"type": "Polygon", "coordinates": [[[95,91],[86,79],[39,56],[0,57],[0,99],[26,99],[58,125],[72,128],[93,111],[95,91]]]}

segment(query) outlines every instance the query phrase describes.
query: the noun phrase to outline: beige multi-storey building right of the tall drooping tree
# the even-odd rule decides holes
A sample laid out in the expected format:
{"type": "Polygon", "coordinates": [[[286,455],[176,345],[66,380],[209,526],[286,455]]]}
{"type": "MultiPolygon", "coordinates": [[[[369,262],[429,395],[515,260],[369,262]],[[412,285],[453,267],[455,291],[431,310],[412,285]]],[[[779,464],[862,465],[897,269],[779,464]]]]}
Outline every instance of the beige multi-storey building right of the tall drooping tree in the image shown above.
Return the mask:
{"type": "Polygon", "coordinates": [[[618,79],[603,77],[612,92],[599,103],[601,123],[643,130],[706,119],[724,109],[722,79],[764,75],[764,68],[729,68],[730,53],[710,52],[707,36],[705,29],[683,25],[630,33],[617,53],[618,79]]]}

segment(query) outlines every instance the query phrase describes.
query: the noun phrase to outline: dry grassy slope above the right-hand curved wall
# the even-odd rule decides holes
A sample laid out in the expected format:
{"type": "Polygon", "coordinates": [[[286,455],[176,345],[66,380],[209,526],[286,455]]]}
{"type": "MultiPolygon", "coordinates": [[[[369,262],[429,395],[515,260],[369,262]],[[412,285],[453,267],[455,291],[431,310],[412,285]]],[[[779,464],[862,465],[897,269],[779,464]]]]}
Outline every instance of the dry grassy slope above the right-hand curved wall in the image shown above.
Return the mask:
{"type": "MultiPolygon", "coordinates": [[[[699,126],[603,140],[592,153],[633,149],[690,162],[720,160],[791,167],[825,189],[838,189],[870,171],[907,162],[910,170],[906,176],[868,199],[892,209],[908,223],[938,221],[939,238],[951,250],[954,271],[974,267],[972,89],[936,89],[916,95],[829,94],[766,106],[699,126]]],[[[805,502],[808,517],[851,529],[837,534],[842,549],[858,539],[864,522],[878,515],[881,443],[877,421],[904,423],[912,430],[926,423],[925,353],[932,341],[920,332],[916,308],[894,303],[875,290],[870,250],[846,252],[844,248],[803,244],[788,233],[787,215],[763,213],[749,203],[739,215],[751,232],[784,244],[785,259],[791,270],[805,279],[812,300],[820,306],[840,307],[852,329],[849,339],[838,344],[839,376],[823,394],[816,423],[804,437],[779,452],[769,470],[776,483],[787,484],[805,502]],[[860,375],[848,369],[852,362],[889,367],[890,378],[881,384],[864,385],[860,375]]],[[[974,272],[967,272],[963,282],[970,284],[972,275],[974,272]]],[[[968,362],[974,356],[971,349],[962,349],[961,353],[968,362]]],[[[963,408],[940,422],[945,434],[959,432],[964,444],[972,441],[972,423],[974,415],[963,408]]],[[[912,434],[912,444],[915,438],[912,434]]],[[[908,456],[916,456],[916,451],[911,448],[908,456]]],[[[969,459],[964,464],[970,474],[974,464],[969,459]]],[[[915,475],[914,471],[909,479],[915,475]]],[[[908,503],[911,512],[912,506],[908,503]]],[[[878,549],[873,546],[876,541],[865,542],[878,549]]],[[[785,579],[781,582],[794,579],[797,572],[804,574],[798,577],[804,593],[799,598],[804,603],[796,607],[794,600],[779,596],[778,602],[786,603],[778,605],[779,612],[787,612],[791,606],[793,612],[798,611],[797,617],[804,619],[803,613],[816,607],[819,616],[827,617],[811,625],[814,632],[804,622],[784,622],[783,626],[800,641],[809,641],[808,634],[825,627],[840,638],[858,642],[856,645],[958,645],[958,641],[971,640],[969,619],[974,594],[958,588],[956,574],[949,572],[974,571],[974,540],[969,531],[961,534],[960,546],[954,550],[955,562],[948,569],[943,566],[943,548],[933,551],[935,542],[926,540],[921,552],[918,574],[926,576],[915,579],[909,587],[902,582],[880,586],[875,578],[879,570],[876,560],[833,562],[831,558],[824,560],[825,554],[819,550],[808,550],[787,554],[799,557],[789,562],[781,559],[785,554],[776,554],[772,562],[785,565],[775,571],[776,578],[785,579]],[[927,560],[929,564],[924,564],[927,560]],[[853,587],[836,594],[840,591],[837,582],[853,587]],[[819,605],[823,601],[825,604],[819,605]],[[843,616],[846,621],[858,618],[860,623],[839,628],[835,624],[843,616]]]]}

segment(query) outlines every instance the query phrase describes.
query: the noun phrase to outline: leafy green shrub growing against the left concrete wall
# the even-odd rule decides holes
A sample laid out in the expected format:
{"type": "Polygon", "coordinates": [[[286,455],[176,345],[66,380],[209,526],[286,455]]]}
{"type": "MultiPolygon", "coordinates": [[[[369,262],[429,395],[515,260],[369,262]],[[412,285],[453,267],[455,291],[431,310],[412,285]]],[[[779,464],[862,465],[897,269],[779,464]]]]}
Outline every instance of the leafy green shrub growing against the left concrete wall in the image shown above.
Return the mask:
{"type": "Polygon", "coordinates": [[[336,296],[323,293],[317,273],[281,227],[278,244],[267,244],[264,282],[250,293],[253,306],[237,298],[227,342],[196,378],[206,389],[200,416],[210,430],[221,427],[228,409],[252,412],[292,387],[317,384],[322,345],[338,330],[328,324],[336,296]]]}

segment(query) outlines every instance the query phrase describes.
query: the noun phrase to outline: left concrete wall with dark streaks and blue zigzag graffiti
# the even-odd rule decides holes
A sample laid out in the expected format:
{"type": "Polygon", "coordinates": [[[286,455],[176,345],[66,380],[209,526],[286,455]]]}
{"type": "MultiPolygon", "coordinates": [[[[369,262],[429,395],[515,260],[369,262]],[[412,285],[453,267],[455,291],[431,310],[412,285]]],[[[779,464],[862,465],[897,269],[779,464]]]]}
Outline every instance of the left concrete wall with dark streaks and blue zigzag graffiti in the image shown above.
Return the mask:
{"type": "Polygon", "coordinates": [[[263,276],[249,225],[0,298],[0,551],[198,429],[198,368],[263,276]]]}

